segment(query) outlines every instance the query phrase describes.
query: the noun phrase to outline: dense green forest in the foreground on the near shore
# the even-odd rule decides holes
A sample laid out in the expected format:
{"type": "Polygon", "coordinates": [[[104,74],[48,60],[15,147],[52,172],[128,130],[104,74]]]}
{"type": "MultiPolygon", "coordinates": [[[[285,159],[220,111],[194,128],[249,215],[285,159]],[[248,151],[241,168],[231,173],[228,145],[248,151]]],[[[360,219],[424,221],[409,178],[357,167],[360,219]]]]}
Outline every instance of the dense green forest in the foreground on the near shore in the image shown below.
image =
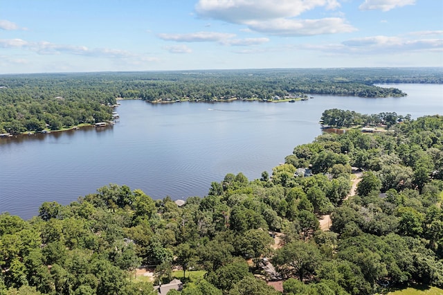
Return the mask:
{"type": "Polygon", "coordinates": [[[204,276],[170,295],[281,294],[266,280],[283,294],[443,287],[442,197],[442,116],[325,133],[271,175],[228,174],[183,206],[110,184],[68,206],[45,202],[31,220],[3,213],[0,294],[157,294],[173,269],[204,276]],[[154,282],[134,279],[140,265],[155,267],[154,282]]]}

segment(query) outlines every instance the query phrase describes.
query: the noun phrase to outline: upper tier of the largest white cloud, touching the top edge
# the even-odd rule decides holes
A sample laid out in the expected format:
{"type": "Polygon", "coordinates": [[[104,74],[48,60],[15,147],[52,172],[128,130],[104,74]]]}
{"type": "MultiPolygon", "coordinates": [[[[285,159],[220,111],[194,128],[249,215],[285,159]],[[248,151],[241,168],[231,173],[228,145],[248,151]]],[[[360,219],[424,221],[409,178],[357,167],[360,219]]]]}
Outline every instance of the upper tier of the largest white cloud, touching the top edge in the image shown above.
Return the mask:
{"type": "Polygon", "coordinates": [[[337,0],[200,0],[195,10],[200,17],[220,19],[235,24],[244,21],[296,17],[317,7],[338,8],[337,0]]]}

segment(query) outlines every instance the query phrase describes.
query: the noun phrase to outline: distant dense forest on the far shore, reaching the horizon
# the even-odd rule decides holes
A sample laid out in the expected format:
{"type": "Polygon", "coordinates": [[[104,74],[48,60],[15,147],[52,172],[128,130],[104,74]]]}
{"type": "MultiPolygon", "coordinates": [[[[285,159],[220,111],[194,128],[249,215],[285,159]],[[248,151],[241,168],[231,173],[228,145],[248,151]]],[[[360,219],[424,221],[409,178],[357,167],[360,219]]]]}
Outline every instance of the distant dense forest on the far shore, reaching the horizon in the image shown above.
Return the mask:
{"type": "Polygon", "coordinates": [[[111,120],[116,98],[157,101],[268,100],[329,94],[405,96],[374,83],[442,83],[442,69],[271,69],[0,75],[0,134],[111,120]]]}

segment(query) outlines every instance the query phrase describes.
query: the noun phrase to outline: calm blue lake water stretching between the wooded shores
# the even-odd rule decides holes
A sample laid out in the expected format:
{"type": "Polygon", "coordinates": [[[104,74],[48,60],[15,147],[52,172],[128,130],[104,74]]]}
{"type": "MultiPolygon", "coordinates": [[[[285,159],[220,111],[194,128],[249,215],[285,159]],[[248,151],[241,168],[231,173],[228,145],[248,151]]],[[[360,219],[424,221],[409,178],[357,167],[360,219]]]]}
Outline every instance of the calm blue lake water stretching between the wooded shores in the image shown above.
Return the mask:
{"type": "Polygon", "coordinates": [[[0,138],[0,212],[28,219],[45,201],[69,204],[108,184],[154,199],[204,197],[211,181],[260,178],[321,133],[325,109],[413,118],[443,114],[443,85],[391,84],[404,98],[318,96],[295,103],[125,100],[107,128],[0,138]]]}

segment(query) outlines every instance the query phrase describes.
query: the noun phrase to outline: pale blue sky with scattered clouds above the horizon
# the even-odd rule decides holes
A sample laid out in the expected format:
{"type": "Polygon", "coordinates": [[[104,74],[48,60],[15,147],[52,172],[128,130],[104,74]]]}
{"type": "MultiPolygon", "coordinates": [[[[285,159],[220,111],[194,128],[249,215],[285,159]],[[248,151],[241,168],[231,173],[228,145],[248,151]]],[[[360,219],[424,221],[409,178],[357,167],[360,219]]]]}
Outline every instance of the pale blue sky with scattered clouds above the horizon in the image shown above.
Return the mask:
{"type": "Polygon", "coordinates": [[[443,66],[442,0],[0,0],[0,73],[443,66]]]}

